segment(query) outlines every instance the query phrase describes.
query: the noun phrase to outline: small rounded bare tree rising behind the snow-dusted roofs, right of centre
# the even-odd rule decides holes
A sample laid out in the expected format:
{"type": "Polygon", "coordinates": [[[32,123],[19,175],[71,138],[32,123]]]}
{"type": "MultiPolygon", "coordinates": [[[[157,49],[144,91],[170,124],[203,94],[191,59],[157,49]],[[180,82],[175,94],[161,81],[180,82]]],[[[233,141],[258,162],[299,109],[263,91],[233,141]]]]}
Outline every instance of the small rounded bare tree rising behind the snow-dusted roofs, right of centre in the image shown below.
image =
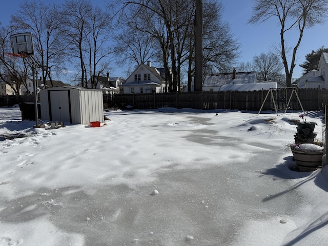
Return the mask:
{"type": "Polygon", "coordinates": [[[276,80],[279,74],[281,74],[283,64],[276,54],[261,53],[253,57],[253,67],[259,80],[268,81],[276,80]]]}

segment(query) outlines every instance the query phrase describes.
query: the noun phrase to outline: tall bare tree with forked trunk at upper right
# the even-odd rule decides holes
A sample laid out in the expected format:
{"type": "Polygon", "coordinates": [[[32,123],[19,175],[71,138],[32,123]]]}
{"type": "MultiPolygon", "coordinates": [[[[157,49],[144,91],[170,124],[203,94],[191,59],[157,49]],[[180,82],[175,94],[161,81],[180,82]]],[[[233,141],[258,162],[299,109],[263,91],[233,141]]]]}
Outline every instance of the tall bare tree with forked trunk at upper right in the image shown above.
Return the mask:
{"type": "MultiPolygon", "coordinates": [[[[254,0],[251,24],[259,24],[273,17],[280,25],[280,55],[286,74],[286,86],[291,87],[295,68],[296,52],[301,43],[304,29],[323,24],[327,16],[328,0],[254,0]],[[288,60],[286,32],[297,31],[292,47],[292,58],[288,60]]],[[[289,40],[290,41],[290,40],[289,40]]]]}

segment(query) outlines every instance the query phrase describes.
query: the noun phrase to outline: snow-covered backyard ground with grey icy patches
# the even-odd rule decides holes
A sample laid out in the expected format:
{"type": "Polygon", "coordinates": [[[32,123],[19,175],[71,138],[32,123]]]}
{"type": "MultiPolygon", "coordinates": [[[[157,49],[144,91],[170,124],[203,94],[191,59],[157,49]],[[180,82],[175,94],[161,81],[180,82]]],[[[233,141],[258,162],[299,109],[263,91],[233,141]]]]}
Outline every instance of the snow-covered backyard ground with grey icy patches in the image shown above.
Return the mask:
{"type": "MultiPolygon", "coordinates": [[[[1,245],[326,245],[328,170],[294,172],[300,112],[111,111],[33,129],[1,108],[1,245]],[[23,136],[24,135],[24,136],[23,136]]],[[[307,112],[317,122],[321,112],[307,112]]]]}

